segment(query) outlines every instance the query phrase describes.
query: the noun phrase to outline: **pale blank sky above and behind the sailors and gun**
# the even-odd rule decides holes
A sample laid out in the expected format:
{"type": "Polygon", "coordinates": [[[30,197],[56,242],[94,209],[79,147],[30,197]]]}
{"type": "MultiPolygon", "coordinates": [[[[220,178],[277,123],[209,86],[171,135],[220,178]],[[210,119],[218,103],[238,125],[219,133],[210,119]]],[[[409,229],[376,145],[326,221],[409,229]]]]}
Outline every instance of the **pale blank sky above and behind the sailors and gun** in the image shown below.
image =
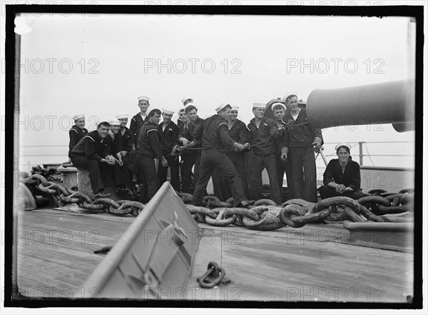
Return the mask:
{"type": "MultiPolygon", "coordinates": [[[[287,91],[306,100],[314,89],[414,77],[415,24],[405,17],[38,15],[24,15],[32,31],[21,36],[21,146],[68,145],[72,124],[64,116],[76,113],[86,114],[90,131],[119,111],[131,120],[141,95],[151,97],[151,108],[175,110],[184,96],[193,97],[201,117],[229,101],[248,123],[253,102],[287,91]],[[332,59],[340,59],[336,69],[332,59]]],[[[399,134],[390,124],[330,128],[323,135],[325,142],[414,141],[413,131],[399,134]]],[[[326,145],[325,154],[332,148],[326,145]]],[[[414,145],[367,148],[413,154],[414,145]]],[[[20,164],[60,163],[67,152],[21,147],[23,155],[63,156],[21,156],[20,164]]],[[[413,159],[372,157],[382,166],[413,167],[413,159]]],[[[367,158],[364,164],[372,165],[367,158]]]]}

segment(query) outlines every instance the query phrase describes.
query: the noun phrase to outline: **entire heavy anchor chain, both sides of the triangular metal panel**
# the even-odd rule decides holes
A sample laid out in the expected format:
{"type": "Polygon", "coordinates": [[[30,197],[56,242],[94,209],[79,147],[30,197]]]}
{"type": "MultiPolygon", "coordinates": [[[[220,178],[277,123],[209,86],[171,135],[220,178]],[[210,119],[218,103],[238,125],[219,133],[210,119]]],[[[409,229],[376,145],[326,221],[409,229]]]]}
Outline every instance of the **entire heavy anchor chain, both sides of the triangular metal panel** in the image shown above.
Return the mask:
{"type": "MultiPolygon", "coordinates": [[[[92,199],[86,194],[72,191],[62,184],[48,181],[41,174],[33,174],[21,183],[32,185],[45,194],[51,194],[59,205],[75,203],[83,209],[104,211],[116,216],[138,216],[144,204],[138,201],[114,201],[109,198],[92,199]]],[[[413,189],[389,193],[382,189],[369,191],[365,197],[354,200],[345,196],[324,199],[318,203],[291,199],[282,205],[270,199],[255,201],[246,208],[233,207],[233,198],[220,201],[216,196],[205,196],[203,206],[190,204],[191,194],[177,193],[186,204],[195,221],[212,226],[245,226],[248,229],[270,231],[283,226],[300,228],[308,223],[331,223],[350,220],[362,222],[389,222],[384,214],[413,211],[413,189]],[[363,219],[365,217],[365,219],[363,219]]]]}

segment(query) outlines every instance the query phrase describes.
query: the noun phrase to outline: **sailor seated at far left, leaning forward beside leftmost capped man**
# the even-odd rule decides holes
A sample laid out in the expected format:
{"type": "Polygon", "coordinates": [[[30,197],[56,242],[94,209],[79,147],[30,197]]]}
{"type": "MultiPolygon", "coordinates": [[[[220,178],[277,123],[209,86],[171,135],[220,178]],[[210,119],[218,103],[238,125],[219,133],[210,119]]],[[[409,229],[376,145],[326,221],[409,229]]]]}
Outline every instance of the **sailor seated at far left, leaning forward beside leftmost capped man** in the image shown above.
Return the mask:
{"type": "Polygon", "coordinates": [[[97,129],[89,132],[71,150],[71,161],[74,166],[87,169],[93,194],[96,197],[108,197],[104,187],[113,185],[111,166],[116,162],[111,156],[111,137],[108,136],[110,124],[102,121],[97,129]]]}

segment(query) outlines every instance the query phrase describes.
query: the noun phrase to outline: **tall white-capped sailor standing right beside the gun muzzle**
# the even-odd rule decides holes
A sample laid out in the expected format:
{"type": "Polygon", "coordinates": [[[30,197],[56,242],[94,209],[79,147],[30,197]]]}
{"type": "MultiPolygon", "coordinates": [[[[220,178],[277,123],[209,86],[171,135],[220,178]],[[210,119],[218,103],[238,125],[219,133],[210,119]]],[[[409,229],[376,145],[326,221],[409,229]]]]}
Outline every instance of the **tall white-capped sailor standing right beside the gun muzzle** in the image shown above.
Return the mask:
{"type": "Polygon", "coordinates": [[[317,202],[317,168],[315,152],[320,152],[324,143],[321,129],[310,121],[306,109],[300,109],[297,94],[287,93],[284,101],[289,106],[284,121],[290,125],[288,138],[288,163],[290,163],[290,179],[294,196],[292,198],[317,202]]]}

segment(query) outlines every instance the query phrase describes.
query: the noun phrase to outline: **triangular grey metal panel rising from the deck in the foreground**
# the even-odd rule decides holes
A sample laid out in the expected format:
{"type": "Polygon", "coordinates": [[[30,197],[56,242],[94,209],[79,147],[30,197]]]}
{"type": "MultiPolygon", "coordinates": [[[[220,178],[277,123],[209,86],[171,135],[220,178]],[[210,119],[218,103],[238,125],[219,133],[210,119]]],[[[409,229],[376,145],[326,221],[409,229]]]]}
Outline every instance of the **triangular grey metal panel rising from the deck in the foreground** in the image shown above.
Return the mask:
{"type": "Polygon", "coordinates": [[[185,288],[199,241],[198,224],[165,182],[83,287],[111,299],[153,299],[185,288]]]}

